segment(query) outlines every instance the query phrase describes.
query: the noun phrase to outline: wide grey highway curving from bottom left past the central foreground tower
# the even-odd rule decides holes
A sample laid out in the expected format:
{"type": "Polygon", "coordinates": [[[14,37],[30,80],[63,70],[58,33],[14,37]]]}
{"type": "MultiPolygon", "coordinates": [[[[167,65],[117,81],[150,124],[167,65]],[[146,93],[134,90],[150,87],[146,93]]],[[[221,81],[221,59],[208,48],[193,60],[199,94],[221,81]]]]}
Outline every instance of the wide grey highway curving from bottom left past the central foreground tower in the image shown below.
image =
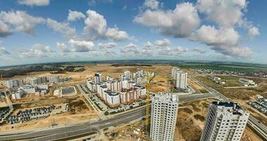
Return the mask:
{"type": "MultiPolygon", "coordinates": [[[[180,102],[191,102],[199,99],[213,97],[211,94],[193,94],[180,96],[180,102]]],[[[32,130],[27,133],[18,131],[17,133],[1,133],[0,140],[56,140],[60,138],[82,135],[88,131],[97,131],[118,124],[130,123],[131,121],[141,120],[145,117],[145,106],[132,109],[126,113],[116,114],[101,121],[91,121],[85,123],[77,123],[75,125],[67,125],[58,128],[49,128],[44,130],[32,130]]]]}

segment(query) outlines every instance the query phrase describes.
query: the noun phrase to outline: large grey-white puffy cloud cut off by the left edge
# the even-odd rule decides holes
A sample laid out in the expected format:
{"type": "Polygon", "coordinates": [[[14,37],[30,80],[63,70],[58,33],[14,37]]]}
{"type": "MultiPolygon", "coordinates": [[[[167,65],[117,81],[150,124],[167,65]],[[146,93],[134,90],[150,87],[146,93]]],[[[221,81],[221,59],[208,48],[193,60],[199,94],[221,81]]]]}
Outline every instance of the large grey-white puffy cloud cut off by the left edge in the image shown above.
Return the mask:
{"type": "Polygon", "coordinates": [[[0,37],[17,31],[32,34],[35,25],[44,21],[44,18],[30,16],[25,11],[0,11],[0,37]]]}

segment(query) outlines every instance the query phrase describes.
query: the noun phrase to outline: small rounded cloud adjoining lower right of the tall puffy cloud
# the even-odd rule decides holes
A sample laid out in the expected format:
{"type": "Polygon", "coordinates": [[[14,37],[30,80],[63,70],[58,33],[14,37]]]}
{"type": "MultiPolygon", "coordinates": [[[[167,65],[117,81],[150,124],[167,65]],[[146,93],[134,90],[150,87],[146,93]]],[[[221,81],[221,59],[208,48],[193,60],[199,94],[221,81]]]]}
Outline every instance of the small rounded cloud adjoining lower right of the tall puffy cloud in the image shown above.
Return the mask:
{"type": "Polygon", "coordinates": [[[115,41],[121,41],[129,38],[129,35],[125,31],[118,30],[118,27],[108,28],[106,30],[106,37],[113,39],[115,41]]]}

